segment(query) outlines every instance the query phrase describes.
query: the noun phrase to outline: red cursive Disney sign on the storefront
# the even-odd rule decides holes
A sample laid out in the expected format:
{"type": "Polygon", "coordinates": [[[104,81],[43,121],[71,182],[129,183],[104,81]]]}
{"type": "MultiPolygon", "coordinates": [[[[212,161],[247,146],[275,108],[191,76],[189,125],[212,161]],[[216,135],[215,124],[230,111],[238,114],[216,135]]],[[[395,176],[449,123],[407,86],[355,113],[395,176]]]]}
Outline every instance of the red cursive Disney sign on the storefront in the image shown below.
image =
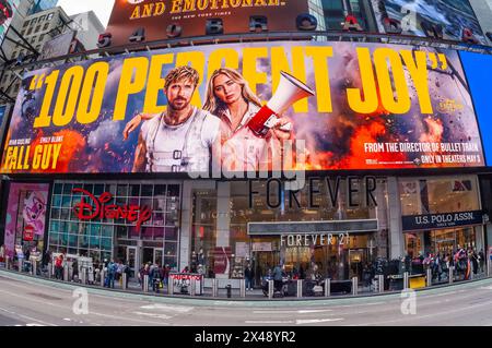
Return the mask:
{"type": "Polygon", "coordinates": [[[72,208],[75,216],[81,220],[124,218],[130,223],[137,221],[137,229],[140,229],[140,226],[149,220],[152,214],[148,206],[106,204],[113,200],[113,194],[109,192],[104,192],[98,197],[84,189],[73,189],[72,192],[83,194],[80,203],[74,204],[72,208]]]}

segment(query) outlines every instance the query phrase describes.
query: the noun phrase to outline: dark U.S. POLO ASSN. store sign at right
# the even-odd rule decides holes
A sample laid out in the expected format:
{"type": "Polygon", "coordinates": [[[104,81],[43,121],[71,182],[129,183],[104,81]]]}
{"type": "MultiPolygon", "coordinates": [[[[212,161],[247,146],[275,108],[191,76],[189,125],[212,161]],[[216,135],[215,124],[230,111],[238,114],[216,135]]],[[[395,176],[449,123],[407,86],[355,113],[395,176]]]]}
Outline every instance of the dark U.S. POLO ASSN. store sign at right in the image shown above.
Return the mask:
{"type": "Polygon", "coordinates": [[[482,224],[482,212],[442,213],[402,216],[405,231],[482,224]]]}

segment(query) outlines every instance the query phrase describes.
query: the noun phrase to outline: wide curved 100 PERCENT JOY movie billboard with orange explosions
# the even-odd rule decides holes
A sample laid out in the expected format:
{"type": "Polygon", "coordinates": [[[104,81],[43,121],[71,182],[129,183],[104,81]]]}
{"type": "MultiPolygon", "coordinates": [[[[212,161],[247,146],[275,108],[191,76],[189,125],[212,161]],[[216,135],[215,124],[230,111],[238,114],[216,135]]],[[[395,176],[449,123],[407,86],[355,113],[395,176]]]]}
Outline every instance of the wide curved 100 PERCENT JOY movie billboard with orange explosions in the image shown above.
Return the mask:
{"type": "Polygon", "coordinates": [[[165,49],[27,72],[0,169],[190,172],[220,163],[258,171],[274,164],[273,154],[293,154],[292,166],[305,170],[484,165],[456,51],[276,41],[165,49]],[[215,71],[223,67],[229,69],[215,71]],[[186,79],[177,79],[176,69],[186,79]],[[293,85],[279,87],[283,71],[314,96],[257,136],[249,124],[260,107],[292,92],[293,85]],[[169,72],[173,83],[164,88],[169,72]]]}

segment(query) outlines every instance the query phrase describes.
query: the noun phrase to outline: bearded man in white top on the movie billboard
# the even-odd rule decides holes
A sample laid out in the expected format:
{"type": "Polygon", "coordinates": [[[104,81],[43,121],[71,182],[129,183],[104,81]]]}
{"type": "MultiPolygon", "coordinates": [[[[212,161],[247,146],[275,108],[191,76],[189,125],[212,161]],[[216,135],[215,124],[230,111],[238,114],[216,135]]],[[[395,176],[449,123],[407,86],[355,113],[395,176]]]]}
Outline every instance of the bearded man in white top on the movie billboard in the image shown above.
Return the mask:
{"type": "Polygon", "coordinates": [[[165,77],[167,111],[142,124],[133,172],[208,172],[220,119],[190,105],[198,72],[178,67],[165,77]]]}

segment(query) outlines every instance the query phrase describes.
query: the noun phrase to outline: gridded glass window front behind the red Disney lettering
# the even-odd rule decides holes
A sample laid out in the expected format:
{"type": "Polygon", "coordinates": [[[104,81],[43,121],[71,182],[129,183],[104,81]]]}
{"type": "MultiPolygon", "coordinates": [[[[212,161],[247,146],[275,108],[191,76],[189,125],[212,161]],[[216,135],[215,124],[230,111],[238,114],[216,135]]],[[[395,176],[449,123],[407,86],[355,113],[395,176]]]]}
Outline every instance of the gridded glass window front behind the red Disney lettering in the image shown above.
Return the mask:
{"type": "MultiPolygon", "coordinates": [[[[108,203],[109,204],[109,203],[108,203]]],[[[145,251],[154,259],[141,262],[159,262],[177,267],[179,238],[180,185],[133,183],[62,183],[54,184],[49,223],[49,249],[54,252],[72,250],[75,254],[91,255],[94,261],[127,259],[127,247],[137,240],[144,241],[145,251]],[[114,195],[110,203],[117,205],[149,206],[150,219],[137,230],[136,224],[125,218],[79,220],[73,212],[81,201],[74,188],[83,188],[95,196],[104,192],[114,195]],[[51,237],[52,236],[52,237],[51,237]]]]}

